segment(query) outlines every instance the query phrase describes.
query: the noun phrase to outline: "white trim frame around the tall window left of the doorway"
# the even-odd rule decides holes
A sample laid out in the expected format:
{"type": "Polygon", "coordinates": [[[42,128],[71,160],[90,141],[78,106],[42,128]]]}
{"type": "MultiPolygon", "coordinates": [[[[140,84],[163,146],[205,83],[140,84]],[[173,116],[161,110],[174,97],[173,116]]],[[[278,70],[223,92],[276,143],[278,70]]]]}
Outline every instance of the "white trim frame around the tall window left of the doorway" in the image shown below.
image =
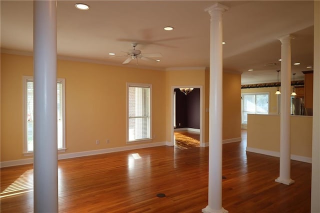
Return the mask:
{"type": "Polygon", "coordinates": [[[126,82],[126,143],[141,143],[141,142],[149,142],[152,140],[152,84],[148,83],[131,83],[126,82]],[[129,87],[145,87],[149,88],[149,123],[150,123],[150,136],[149,138],[143,138],[143,139],[136,139],[136,140],[129,140],[129,87]]]}

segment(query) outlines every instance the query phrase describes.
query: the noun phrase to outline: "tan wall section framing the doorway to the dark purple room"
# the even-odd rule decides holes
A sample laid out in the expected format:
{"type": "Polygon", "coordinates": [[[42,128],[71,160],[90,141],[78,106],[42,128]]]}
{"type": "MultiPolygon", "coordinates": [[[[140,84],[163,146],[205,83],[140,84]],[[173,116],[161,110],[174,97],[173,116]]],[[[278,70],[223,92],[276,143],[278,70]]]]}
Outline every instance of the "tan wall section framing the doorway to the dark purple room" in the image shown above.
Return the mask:
{"type": "MultiPolygon", "coordinates": [[[[222,139],[239,138],[240,133],[240,86],[241,75],[237,73],[223,72],[223,117],[222,117],[222,139]]],[[[178,85],[201,85],[202,86],[202,141],[209,141],[209,70],[171,70],[166,72],[166,93],[167,93],[167,120],[166,120],[166,138],[172,141],[172,86],[178,85]],[[206,110],[207,109],[207,110],[206,110]]]]}

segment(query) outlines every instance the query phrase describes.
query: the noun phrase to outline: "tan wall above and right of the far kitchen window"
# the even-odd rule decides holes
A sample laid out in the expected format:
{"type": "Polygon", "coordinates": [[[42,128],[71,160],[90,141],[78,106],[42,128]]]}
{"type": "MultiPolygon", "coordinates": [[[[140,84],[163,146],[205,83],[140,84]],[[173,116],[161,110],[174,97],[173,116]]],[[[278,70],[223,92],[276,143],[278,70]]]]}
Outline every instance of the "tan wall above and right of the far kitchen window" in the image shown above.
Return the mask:
{"type": "Polygon", "coordinates": [[[241,89],[241,93],[269,92],[269,113],[277,114],[278,95],[274,94],[276,89],[277,87],[245,88],[245,89],[241,89]]]}

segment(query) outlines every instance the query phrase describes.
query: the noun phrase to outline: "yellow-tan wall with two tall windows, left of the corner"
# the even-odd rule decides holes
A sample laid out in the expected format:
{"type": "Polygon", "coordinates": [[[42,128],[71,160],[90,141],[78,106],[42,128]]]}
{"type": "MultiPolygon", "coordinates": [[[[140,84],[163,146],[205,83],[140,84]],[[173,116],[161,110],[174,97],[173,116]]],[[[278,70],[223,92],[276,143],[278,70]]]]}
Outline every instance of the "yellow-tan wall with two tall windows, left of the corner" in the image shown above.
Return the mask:
{"type": "MultiPolygon", "coordinates": [[[[1,161],[24,158],[22,76],[32,69],[31,56],[1,54],[1,161]]],[[[152,142],[165,141],[164,71],[58,60],[57,77],[65,78],[65,153],[127,145],[126,82],[152,84],[152,142]]]]}

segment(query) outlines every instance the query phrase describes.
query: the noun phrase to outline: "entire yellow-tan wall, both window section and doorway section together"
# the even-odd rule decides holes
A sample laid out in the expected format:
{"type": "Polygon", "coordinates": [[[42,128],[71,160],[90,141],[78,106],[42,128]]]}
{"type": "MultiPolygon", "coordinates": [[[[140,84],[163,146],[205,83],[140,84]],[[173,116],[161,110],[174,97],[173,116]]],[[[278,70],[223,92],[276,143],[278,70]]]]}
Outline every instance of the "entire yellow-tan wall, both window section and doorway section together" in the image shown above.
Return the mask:
{"type": "MultiPolygon", "coordinates": [[[[33,75],[31,56],[1,54],[1,162],[23,156],[23,75],[33,75]]],[[[57,61],[65,79],[66,152],[126,144],[126,82],[152,84],[152,141],[171,141],[171,88],[202,86],[203,141],[208,142],[208,70],[156,71],[79,61],[57,61]],[[100,144],[96,145],[95,140],[100,144]],[[109,139],[109,143],[105,140],[109,139]]],[[[240,74],[223,72],[223,139],[240,137],[240,74]]]]}

